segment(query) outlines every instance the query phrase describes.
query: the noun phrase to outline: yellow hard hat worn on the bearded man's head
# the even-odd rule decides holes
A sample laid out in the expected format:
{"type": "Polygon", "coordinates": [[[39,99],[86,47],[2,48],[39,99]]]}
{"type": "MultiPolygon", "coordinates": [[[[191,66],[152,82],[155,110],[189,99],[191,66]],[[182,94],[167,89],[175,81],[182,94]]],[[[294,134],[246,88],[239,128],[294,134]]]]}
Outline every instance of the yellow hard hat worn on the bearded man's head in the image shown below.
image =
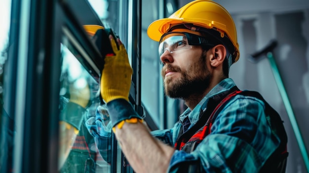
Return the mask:
{"type": "Polygon", "coordinates": [[[235,48],[233,53],[234,62],[239,59],[239,45],[232,16],[223,6],[212,0],[193,0],[189,2],[168,18],[151,23],[147,34],[151,39],[159,41],[161,36],[173,26],[187,23],[206,29],[216,29],[221,33],[221,37],[227,35],[235,48]]]}

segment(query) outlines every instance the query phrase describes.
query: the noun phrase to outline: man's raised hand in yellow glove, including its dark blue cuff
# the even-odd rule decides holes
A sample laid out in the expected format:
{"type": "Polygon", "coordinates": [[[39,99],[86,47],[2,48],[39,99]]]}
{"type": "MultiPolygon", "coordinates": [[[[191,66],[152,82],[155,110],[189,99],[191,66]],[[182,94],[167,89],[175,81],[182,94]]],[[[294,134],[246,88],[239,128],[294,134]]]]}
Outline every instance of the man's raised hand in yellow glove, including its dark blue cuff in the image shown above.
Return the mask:
{"type": "Polygon", "coordinates": [[[131,75],[133,70],[123,44],[117,39],[119,50],[112,35],[110,41],[115,56],[106,56],[101,75],[101,95],[107,103],[112,127],[131,118],[142,119],[129,103],[131,75]]]}

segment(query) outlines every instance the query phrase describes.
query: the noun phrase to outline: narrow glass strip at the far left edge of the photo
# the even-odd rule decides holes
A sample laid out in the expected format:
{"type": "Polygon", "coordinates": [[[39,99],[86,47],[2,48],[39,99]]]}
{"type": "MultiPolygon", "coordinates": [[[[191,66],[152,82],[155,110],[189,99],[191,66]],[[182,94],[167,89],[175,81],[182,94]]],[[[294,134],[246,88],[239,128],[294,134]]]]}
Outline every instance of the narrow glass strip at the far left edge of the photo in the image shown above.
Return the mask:
{"type": "Polygon", "coordinates": [[[0,1],[0,172],[12,172],[14,121],[8,112],[9,79],[7,77],[7,57],[9,50],[11,0],[0,1]]]}

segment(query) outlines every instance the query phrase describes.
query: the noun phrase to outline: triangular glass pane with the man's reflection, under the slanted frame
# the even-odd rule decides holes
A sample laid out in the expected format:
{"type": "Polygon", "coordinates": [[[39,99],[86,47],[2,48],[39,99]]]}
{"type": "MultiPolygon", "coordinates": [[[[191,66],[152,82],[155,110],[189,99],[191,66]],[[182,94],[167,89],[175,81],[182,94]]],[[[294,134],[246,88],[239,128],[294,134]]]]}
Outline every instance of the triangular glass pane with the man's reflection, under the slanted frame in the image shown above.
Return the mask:
{"type": "Polygon", "coordinates": [[[77,60],[80,55],[73,47],[62,44],[61,50],[60,172],[109,173],[112,131],[105,123],[107,114],[101,113],[104,105],[101,105],[98,97],[98,79],[94,79],[80,64],[77,60]],[[97,132],[100,128],[104,130],[97,132]],[[103,132],[106,138],[98,135],[103,135],[103,132]],[[98,150],[95,143],[98,139],[98,144],[104,145],[106,150],[98,150]]]}

